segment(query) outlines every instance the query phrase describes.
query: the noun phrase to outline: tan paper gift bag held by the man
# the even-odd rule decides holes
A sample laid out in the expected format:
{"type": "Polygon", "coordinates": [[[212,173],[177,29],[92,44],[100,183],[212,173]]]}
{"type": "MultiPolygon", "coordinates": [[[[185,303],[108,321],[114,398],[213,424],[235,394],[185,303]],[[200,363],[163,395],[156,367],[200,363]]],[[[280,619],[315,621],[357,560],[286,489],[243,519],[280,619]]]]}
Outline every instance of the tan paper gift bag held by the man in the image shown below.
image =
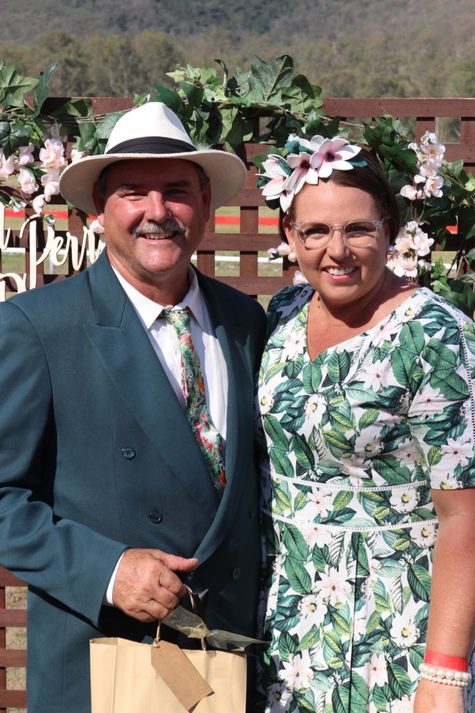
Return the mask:
{"type": "Polygon", "coordinates": [[[246,709],[246,655],[241,651],[181,650],[162,641],[155,648],[125,639],[93,639],[90,674],[92,713],[244,713],[246,709]]]}

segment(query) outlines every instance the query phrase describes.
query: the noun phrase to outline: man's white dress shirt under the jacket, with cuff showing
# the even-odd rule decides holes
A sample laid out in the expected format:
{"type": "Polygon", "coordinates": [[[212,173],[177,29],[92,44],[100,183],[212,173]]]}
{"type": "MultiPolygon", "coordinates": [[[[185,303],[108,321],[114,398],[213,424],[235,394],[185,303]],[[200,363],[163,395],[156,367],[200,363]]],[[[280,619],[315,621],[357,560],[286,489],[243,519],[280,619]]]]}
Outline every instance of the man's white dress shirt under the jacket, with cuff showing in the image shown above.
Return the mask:
{"type": "MultiPolygon", "coordinates": [[[[178,336],[172,324],[167,322],[163,317],[160,319],[160,314],[165,308],[189,308],[191,313],[189,324],[194,348],[197,351],[199,364],[202,368],[209,415],[211,416],[215,428],[223,437],[224,446],[226,446],[226,414],[228,403],[226,361],[224,361],[221,347],[214,333],[211,317],[209,316],[204,296],[199,289],[196,273],[192,267],[189,268],[189,290],[187,294],[185,294],[182,302],[179,302],[179,304],[169,305],[153,302],[152,299],[145,297],[145,295],[135,289],[135,287],[132,287],[114,267],[113,270],[125,294],[127,294],[130,302],[132,302],[135,312],[137,312],[137,316],[145,332],[147,332],[147,337],[155,349],[155,354],[157,354],[160,364],[162,364],[165,374],[167,374],[167,379],[183,407],[181,354],[179,351],[178,336]]],[[[117,574],[122,556],[115,565],[115,570],[110,578],[105,594],[104,603],[108,605],[113,605],[112,594],[115,575],[117,574]]]]}

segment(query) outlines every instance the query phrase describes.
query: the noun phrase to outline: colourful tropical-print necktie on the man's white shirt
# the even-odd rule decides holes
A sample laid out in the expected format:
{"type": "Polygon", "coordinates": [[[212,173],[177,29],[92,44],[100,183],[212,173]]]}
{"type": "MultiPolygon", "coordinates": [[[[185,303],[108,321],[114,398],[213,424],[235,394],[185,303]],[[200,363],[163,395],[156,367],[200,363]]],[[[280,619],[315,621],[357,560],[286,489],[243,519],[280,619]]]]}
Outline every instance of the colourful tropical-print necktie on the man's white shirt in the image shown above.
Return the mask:
{"type": "Polygon", "coordinates": [[[202,370],[189,328],[189,308],[164,309],[161,316],[167,319],[167,322],[172,324],[177,332],[179,351],[182,357],[184,411],[202,450],[214,487],[219,496],[222,496],[226,485],[223,438],[214,428],[209,416],[202,370]]]}

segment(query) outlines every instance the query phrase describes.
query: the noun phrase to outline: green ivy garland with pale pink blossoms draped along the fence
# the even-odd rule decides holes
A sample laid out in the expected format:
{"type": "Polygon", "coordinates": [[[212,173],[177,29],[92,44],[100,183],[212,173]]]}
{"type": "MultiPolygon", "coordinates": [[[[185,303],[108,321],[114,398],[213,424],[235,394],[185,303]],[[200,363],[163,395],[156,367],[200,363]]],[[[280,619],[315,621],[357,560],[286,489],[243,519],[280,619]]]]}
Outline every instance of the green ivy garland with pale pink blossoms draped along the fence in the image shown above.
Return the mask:
{"type": "MultiPolygon", "coordinates": [[[[410,247],[404,255],[413,267],[417,265],[419,282],[466,314],[474,314],[474,275],[460,273],[464,262],[475,270],[475,249],[466,250],[467,241],[475,236],[475,178],[464,171],[461,161],[442,160],[444,147],[440,148],[437,137],[426,135],[415,145],[409,130],[390,116],[358,127],[328,117],[321,111],[320,87],[301,74],[294,76],[290,56],[271,62],[253,56],[249,71],[237,68],[232,77],[226,63],[216,63],[217,68],[178,68],[169,73],[176,91],[157,84],[152,95],[136,95],[134,104],[165,102],[200,147],[224,145],[233,150],[244,141],[270,143],[271,148],[254,159],[259,169],[268,153],[285,155],[289,135],[331,138],[339,133],[370,146],[397,194],[409,242],[423,231],[444,249],[447,226],[457,226],[459,250],[449,269],[440,258],[435,264],[417,260],[417,250],[410,247]],[[435,176],[432,164],[426,162],[431,151],[439,153],[435,176]],[[454,272],[456,277],[449,277],[454,272]]],[[[16,65],[0,61],[0,201],[14,208],[33,205],[46,217],[46,204],[58,192],[59,175],[66,165],[62,138],[75,138],[72,160],[103,153],[122,114],[93,116],[92,103],[84,99],[63,103],[50,114],[43,112],[55,67],[48,66],[36,79],[21,76],[16,65]]]]}

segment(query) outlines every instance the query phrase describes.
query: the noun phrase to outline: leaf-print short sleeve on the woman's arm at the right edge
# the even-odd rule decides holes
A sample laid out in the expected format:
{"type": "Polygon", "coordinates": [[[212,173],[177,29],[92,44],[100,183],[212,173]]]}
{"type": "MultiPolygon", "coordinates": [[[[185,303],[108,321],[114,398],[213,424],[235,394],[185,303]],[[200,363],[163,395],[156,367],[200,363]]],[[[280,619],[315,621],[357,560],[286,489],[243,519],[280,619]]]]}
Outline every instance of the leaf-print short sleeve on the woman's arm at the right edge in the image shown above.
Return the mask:
{"type": "Polygon", "coordinates": [[[409,407],[412,441],[431,488],[475,486],[475,329],[457,312],[427,335],[424,375],[409,407]]]}

